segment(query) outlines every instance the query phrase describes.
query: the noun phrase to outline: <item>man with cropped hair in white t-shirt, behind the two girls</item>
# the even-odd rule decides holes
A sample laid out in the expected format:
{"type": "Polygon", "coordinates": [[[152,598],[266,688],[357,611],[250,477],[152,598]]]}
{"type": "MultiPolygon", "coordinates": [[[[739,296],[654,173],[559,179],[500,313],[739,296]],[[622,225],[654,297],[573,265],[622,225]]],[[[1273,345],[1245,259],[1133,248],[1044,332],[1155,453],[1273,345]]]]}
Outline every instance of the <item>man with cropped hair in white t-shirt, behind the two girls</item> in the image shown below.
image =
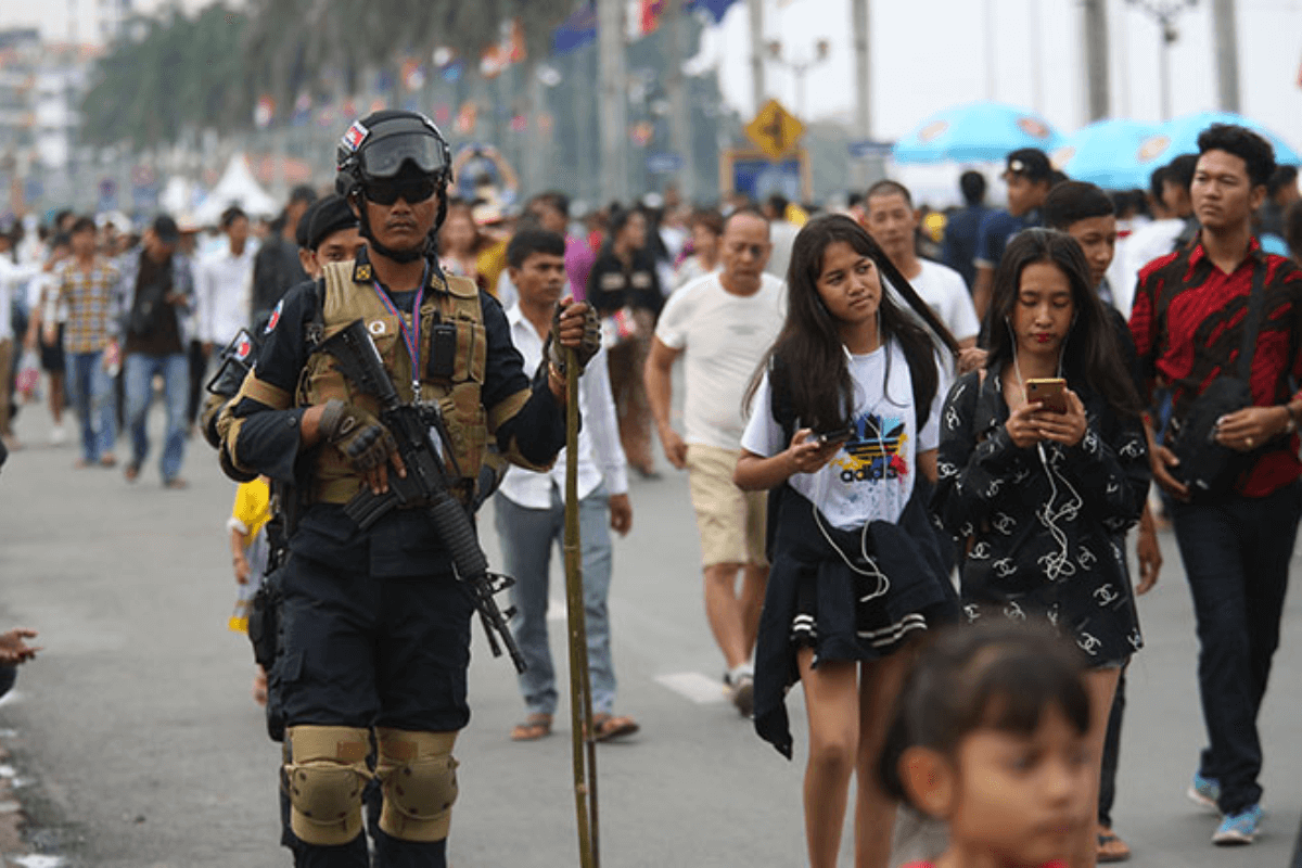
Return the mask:
{"type": "MultiPolygon", "coordinates": [[[[958,346],[965,350],[976,346],[980,323],[962,275],[948,265],[918,256],[914,242],[918,212],[913,207],[909,189],[896,181],[878,181],[868,189],[865,211],[868,234],[958,340],[958,346]]],[[[889,284],[887,286],[894,301],[907,310],[898,290],[889,284]]]]}

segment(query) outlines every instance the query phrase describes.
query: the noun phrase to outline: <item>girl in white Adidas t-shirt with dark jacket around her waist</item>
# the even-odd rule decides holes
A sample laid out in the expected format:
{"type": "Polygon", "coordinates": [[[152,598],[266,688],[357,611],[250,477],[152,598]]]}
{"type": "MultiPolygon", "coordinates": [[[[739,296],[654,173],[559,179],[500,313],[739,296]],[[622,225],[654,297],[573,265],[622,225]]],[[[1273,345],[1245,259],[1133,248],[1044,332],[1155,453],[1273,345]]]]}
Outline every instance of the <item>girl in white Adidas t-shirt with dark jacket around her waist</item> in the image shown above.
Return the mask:
{"type": "MultiPolygon", "coordinates": [[[[944,371],[932,336],[884,297],[883,273],[907,288],[848,217],[820,217],[797,236],[786,320],[753,387],[734,475],[741,488],[775,491],[755,729],[790,756],[783,698],[801,681],[812,868],[836,864],[852,773],[855,864],[885,867],[894,803],[875,764],[906,666],[898,652],[957,616],[926,511],[944,371]]],[[[904,294],[954,347],[913,290],[904,294]]]]}

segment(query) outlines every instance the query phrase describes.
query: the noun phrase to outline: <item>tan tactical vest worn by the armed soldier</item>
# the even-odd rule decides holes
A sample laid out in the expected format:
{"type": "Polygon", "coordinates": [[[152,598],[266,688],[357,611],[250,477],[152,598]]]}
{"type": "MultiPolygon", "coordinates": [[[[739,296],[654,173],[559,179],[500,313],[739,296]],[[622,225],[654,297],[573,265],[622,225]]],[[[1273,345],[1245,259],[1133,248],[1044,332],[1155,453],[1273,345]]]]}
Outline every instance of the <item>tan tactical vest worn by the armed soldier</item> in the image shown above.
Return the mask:
{"type": "MultiPolygon", "coordinates": [[[[415,396],[411,393],[411,359],[408,355],[408,345],[398,329],[398,316],[391,314],[380,301],[371,277],[371,265],[365,260],[326,265],[322,271],[324,294],[320,299],[320,340],[329,338],[354,320],[365,321],[393,385],[402,401],[410,402],[415,396]]],[[[406,314],[400,316],[410,319],[406,314]]],[[[430,276],[419,316],[419,400],[439,403],[450,440],[450,461],[449,455],[444,455],[448,475],[456,480],[457,488],[461,489],[458,493],[469,496],[484,461],[488,440],[487,418],[480,402],[488,336],[483,327],[479,288],[465,277],[441,277],[435,271],[430,276]],[[430,342],[437,323],[456,327],[452,376],[435,376],[437,372],[430,370],[430,342]]],[[[353,383],[339,371],[333,358],[315,351],[303,366],[296,400],[298,406],[311,406],[331,398],[349,401],[379,416],[380,407],[375,397],[358,393],[353,383]]],[[[311,501],[344,504],[361,487],[361,475],[348,465],[337,449],[316,450],[311,501]]]]}

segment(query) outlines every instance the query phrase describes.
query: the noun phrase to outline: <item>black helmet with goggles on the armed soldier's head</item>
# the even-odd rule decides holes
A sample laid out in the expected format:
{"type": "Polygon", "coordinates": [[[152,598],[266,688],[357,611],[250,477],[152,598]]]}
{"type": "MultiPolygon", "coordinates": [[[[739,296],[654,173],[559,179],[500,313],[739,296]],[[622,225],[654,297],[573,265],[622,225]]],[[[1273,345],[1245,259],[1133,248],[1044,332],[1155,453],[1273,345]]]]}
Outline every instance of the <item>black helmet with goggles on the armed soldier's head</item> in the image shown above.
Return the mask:
{"type": "MultiPolygon", "coordinates": [[[[345,199],[365,197],[367,181],[397,177],[409,165],[428,176],[439,194],[439,216],[434,221],[431,236],[439,232],[448,213],[452,152],[443,133],[424,115],[383,109],[354,121],[339,141],[335,164],[335,190],[345,199]]],[[[371,234],[366,210],[361,211],[362,237],[374,249],[398,260],[415,258],[408,251],[383,249],[371,234]]]]}

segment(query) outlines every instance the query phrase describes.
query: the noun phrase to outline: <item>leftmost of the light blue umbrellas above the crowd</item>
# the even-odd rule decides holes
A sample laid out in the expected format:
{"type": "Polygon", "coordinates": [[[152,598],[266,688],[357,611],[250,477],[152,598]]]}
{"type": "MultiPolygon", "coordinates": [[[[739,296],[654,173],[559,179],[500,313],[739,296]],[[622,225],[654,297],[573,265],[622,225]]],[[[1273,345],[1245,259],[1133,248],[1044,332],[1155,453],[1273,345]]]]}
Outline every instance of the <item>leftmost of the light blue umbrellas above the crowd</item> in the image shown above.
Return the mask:
{"type": "Polygon", "coordinates": [[[1035,112],[1003,103],[967,103],[936,112],[891,151],[896,163],[992,163],[1009,151],[1049,152],[1062,137],[1035,112]]]}

